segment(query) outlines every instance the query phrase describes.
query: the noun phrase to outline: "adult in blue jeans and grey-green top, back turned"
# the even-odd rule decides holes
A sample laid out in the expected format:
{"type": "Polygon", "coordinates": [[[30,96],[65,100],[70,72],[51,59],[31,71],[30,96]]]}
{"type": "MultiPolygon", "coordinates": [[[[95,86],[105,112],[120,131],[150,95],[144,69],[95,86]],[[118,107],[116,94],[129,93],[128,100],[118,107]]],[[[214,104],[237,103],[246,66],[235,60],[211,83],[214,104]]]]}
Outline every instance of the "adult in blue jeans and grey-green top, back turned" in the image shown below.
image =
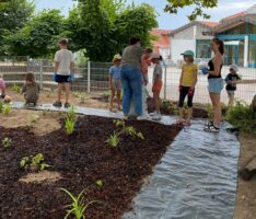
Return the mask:
{"type": "Polygon", "coordinates": [[[123,85],[123,112],[128,117],[131,101],[135,101],[137,116],[142,115],[142,74],[141,74],[141,48],[139,38],[131,38],[130,45],[123,51],[121,85],[123,85]]]}

